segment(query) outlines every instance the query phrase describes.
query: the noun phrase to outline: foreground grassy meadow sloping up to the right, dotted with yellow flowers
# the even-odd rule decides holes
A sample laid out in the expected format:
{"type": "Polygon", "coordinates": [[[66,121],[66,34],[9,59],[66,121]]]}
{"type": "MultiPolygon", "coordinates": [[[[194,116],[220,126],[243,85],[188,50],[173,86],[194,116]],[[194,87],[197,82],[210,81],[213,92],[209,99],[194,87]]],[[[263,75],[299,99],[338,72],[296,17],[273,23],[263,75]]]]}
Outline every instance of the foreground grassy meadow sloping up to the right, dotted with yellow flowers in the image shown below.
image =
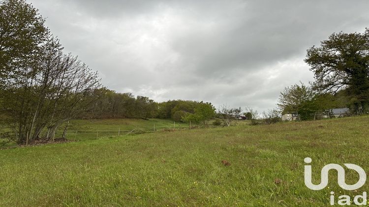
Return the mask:
{"type": "Polygon", "coordinates": [[[0,206],[329,206],[331,191],[369,190],[342,190],[337,173],[304,184],[305,157],[315,181],[329,163],[369,172],[368,116],[92,137],[0,150],[0,206]]]}

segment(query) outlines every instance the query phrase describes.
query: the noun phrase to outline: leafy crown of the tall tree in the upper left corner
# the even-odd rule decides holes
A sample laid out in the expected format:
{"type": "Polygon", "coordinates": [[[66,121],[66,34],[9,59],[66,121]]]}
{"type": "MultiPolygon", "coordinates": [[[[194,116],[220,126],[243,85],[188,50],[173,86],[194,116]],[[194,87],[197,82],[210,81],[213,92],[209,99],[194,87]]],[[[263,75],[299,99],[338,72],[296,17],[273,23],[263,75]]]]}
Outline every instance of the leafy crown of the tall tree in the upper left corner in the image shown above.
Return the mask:
{"type": "MultiPolygon", "coordinates": [[[[50,32],[45,19],[25,0],[0,2],[0,84],[12,85],[39,68],[50,32]]],[[[0,85],[0,86],[1,86],[0,85]]]]}

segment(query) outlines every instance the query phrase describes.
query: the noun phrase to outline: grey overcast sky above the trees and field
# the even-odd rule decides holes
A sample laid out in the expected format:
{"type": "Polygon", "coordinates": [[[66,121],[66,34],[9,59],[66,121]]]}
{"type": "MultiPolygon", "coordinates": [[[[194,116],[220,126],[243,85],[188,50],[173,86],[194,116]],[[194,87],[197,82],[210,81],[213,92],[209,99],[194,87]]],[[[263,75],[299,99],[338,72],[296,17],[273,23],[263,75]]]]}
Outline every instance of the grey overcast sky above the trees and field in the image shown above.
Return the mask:
{"type": "Polygon", "coordinates": [[[117,92],[259,111],[308,83],[307,48],[364,32],[368,0],[28,0],[117,92]]]}

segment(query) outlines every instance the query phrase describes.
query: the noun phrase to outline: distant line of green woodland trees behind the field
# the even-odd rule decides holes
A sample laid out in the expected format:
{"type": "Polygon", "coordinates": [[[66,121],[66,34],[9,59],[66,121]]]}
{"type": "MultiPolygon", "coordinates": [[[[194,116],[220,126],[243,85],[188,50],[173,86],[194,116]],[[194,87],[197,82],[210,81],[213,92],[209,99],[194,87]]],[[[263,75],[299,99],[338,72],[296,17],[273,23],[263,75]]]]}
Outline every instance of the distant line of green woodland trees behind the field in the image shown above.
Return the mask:
{"type": "Polygon", "coordinates": [[[211,103],[184,100],[157,103],[148,97],[117,93],[105,87],[95,89],[91,96],[96,97],[96,101],[77,118],[161,118],[206,124],[215,116],[215,107],[211,103]]]}

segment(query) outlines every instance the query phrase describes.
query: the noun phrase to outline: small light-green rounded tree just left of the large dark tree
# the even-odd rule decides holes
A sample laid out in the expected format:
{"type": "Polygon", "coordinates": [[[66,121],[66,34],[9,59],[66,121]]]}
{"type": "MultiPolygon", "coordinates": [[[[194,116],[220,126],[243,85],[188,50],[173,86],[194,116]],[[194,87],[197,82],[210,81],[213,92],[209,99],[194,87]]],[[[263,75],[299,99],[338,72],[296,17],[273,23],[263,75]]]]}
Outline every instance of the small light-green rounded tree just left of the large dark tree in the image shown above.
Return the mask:
{"type": "MultiPolygon", "coordinates": [[[[309,101],[313,97],[314,93],[310,87],[305,86],[303,83],[300,85],[294,84],[289,87],[285,87],[280,92],[278,100],[278,108],[282,113],[297,113],[303,107],[303,104],[309,101]]],[[[300,120],[300,116],[298,116],[300,120]]]]}

